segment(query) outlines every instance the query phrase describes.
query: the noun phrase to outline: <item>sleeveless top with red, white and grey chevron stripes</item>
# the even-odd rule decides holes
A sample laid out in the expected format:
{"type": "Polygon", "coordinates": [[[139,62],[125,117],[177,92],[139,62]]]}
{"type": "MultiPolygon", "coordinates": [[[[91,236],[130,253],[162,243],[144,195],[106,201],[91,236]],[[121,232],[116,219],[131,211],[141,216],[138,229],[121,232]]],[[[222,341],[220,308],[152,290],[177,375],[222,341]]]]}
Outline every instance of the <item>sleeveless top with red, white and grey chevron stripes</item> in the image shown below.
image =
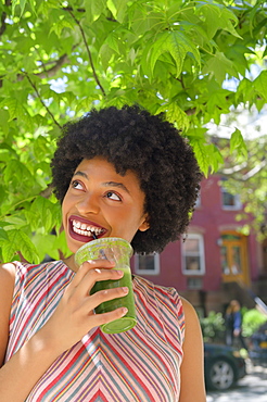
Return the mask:
{"type": "MultiPolygon", "coordinates": [[[[5,361],[53,314],[75,275],[62,261],[16,262],[5,361]]],[[[27,402],[174,402],[179,400],[185,322],[173,288],[135,276],[137,326],[123,334],[91,329],[43,374],[27,402]]]]}

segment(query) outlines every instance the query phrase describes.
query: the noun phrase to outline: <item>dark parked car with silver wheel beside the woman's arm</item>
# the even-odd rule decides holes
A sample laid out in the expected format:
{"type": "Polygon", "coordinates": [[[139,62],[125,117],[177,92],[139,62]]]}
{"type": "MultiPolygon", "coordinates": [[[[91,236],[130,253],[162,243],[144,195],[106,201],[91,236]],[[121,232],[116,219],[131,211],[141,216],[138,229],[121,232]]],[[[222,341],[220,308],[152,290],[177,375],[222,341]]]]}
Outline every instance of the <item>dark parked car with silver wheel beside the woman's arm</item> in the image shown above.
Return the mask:
{"type": "Polygon", "coordinates": [[[227,390],[245,376],[245,360],[238,350],[225,344],[204,344],[206,388],[227,390]]]}

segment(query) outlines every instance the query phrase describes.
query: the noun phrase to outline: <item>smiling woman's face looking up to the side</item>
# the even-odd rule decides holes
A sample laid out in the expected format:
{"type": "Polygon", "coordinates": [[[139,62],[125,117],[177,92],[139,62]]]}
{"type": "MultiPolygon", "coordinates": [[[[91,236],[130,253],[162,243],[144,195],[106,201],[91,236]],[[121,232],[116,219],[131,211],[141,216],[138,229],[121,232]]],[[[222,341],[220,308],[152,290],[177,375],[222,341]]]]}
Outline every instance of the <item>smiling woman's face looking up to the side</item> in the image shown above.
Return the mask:
{"type": "Polygon", "coordinates": [[[69,250],[76,252],[101,237],[120,237],[130,242],[138,229],[149,228],[144,198],[134,172],[120,176],[103,158],[82,160],[62,204],[69,250]]]}

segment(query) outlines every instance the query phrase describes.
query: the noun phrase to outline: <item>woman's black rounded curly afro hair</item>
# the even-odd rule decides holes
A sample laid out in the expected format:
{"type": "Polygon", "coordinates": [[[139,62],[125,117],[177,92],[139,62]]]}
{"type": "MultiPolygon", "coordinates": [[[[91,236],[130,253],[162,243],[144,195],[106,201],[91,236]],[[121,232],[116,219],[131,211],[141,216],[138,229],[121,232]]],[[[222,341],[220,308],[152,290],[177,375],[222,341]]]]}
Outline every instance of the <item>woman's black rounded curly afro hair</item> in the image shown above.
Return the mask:
{"type": "Polygon", "coordinates": [[[161,252],[186,233],[202,175],[191,147],[173,124],[137,105],[92,110],[66,124],[51,163],[61,202],[78,164],[94,156],[106,159],[122,176],[129,169],[139,178],[150,229],[137,231],[135,252],[161,252]]]}

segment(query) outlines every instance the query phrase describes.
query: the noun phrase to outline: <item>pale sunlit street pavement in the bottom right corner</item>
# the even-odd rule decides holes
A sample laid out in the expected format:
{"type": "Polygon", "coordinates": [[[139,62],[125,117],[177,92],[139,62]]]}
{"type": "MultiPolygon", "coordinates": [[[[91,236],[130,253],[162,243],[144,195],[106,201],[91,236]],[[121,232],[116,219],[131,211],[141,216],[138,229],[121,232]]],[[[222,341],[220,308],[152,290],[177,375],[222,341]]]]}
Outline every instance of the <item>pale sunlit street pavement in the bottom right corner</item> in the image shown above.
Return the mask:
{"type": "Polygon", "coordinates": [[[252,366],[246,368],[247,375],[238,381],[233,389],[225,392],[208,391],[207,402],[267,402],[267,368],[252,366]]]}

